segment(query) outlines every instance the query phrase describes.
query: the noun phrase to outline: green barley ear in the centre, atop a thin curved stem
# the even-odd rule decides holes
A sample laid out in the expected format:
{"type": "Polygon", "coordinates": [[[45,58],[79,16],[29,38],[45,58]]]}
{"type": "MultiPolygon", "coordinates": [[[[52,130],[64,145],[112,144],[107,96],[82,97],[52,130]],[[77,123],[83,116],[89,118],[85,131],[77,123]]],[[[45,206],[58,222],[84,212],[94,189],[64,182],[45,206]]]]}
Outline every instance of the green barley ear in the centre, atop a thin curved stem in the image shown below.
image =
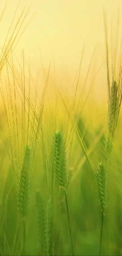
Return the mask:
{"type": "Polygon", "coordinates": [[[68,183],[67,177],[67,158],[66,158],[66,146],[61,134],[61,130],[54,134],[53,138],[53,149],[54,149],[54,169],[56,178],[63,189],[66,189],[68,183]]]}

